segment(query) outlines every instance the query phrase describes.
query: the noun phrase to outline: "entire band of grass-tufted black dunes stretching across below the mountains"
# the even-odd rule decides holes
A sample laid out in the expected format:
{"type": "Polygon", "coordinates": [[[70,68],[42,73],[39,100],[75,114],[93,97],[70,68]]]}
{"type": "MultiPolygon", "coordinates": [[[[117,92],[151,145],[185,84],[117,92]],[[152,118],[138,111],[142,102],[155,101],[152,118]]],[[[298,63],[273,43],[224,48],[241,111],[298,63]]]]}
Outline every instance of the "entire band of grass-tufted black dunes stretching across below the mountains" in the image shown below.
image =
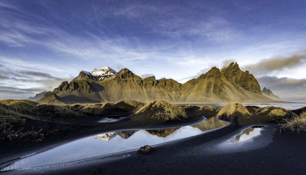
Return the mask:
{"type": "MultiPolygon", "coordinates": [[[[28,100],[0,101],[0,139],[23,139],[39,142],[64,130],[55,122],[84,124],[100,116],[129,115],[131,122],[154,123],[183,121],[190,117],[216,115],[223,120],[237,121],[240,125],[278,122],[280,131],[300,132],[306,129],[306,109],[286,110],[280,107],[243,106],[232,103],[222,108],[199,105],[174,105],[165,101],[148,103],[124,100],[105,104],[53,105],[28,100]],[[83,123],[82,123],[83,122],[83,123]],[[32,123],[36,123],[33,125],[32,123]],[[46,125],[46,123],[49,123],[46,125]],[[47,126],[47,127],[46,127],[47,126]]],[[[91,123],[92,124],[92,123],[91,123]]]]}

